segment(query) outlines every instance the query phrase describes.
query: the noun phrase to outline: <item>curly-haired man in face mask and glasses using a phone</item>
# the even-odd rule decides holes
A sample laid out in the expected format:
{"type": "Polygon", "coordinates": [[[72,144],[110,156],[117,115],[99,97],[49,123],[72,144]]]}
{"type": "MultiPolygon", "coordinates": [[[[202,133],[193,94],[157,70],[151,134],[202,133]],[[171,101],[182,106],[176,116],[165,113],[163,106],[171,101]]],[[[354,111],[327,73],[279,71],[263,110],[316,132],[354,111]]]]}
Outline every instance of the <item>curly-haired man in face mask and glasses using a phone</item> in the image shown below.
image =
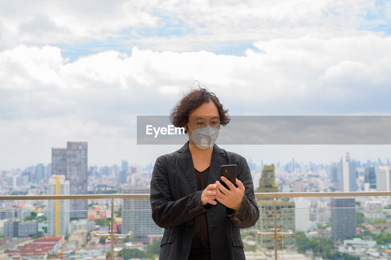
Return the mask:
{"type": "Polygon", "coordinates": [[[220,127],[230,122],[228,110],[214,93],[197,88],[176,104],[170,119],[189,140],[154,164],[152,218],[164,228],[159,259],[245,259],[240,228],[255,225],[259,210],[246,159],[215,144],[220,127]],[[227,164],[237,165],[237,187],[219,180],[220,166],[227,164]]]}

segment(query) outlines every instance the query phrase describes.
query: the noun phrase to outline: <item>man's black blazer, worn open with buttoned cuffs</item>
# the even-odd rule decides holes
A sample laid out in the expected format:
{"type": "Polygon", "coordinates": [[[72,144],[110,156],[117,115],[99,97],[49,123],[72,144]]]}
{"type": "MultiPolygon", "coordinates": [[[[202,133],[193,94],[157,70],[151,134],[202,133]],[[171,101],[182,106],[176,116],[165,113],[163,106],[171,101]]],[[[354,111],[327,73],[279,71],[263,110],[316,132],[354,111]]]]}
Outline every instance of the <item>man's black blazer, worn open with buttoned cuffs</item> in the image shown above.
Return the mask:
{"type": "Polygon", "coordinates": [[[237,179],[245,187],[237,212],[219,202],[202,206],[202,191],[197,191],[188,142],[176,152],[158,157],[152,172],[151,206],[156,225],[165,228],[160,260],[188,258],[195,217],[204,212],[208,217],[211,259],[245,259],[239,228],[249,228],[259,218],[253,180],[244,157],[213,145],[208,184],[218,180],[220,166],[225,164],[237,164],[237,179]]]}

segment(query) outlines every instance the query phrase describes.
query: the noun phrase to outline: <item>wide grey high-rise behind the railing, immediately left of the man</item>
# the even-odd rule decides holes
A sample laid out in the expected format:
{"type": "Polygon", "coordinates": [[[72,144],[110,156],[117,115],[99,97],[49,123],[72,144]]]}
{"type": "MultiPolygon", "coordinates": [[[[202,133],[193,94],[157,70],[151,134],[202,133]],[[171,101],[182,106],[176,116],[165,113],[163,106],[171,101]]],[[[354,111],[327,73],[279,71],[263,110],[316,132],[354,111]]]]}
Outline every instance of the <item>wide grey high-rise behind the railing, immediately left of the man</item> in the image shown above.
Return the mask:
{"type": "MultiPolygon", "coordinates": [[[[124,187],[123,194],[149,194],[149,187],[124,187]]],[[[122,203],[122,233],[133,232],[135,242],[148,243],[148,235],[163,235],[164,229],[155,224],[149,199],[124,199],[122,203]]]]}

